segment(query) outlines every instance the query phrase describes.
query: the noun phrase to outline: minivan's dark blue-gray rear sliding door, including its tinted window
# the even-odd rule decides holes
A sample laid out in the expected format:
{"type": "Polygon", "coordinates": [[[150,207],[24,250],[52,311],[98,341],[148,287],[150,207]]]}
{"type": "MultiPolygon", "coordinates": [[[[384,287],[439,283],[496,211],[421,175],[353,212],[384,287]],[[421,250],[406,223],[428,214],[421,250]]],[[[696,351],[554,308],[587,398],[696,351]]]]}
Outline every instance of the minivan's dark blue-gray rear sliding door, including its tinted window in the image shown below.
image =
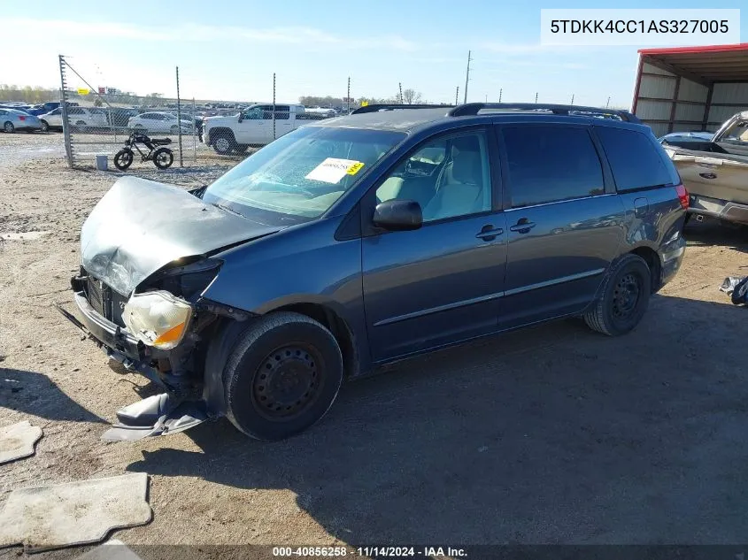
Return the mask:
{"type": "Polygon", "coordinates": [[[605,158],[590,127],[500,130],[509,242],[500,326],[582,311],[623,238],[623,206],[605,158]]]}

